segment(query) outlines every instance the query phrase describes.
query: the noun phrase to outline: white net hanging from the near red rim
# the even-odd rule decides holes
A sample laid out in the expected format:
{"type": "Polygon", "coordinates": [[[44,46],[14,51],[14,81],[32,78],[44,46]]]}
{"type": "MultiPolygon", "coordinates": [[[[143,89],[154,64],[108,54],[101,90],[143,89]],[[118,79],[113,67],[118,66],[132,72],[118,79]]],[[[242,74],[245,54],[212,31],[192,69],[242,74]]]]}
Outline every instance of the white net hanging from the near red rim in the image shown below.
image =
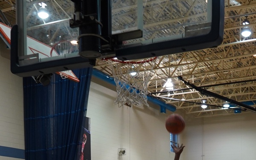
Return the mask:
{"type": "Polygon", "coordinates": [[[116,83],[117,98],[115,104],[118,104],[119,107],[124,105],[148,106],[148,80],[151,77],[151,70],[155,66],[156,59],[157,57],[141,61],[108,60],[116,83]]]}

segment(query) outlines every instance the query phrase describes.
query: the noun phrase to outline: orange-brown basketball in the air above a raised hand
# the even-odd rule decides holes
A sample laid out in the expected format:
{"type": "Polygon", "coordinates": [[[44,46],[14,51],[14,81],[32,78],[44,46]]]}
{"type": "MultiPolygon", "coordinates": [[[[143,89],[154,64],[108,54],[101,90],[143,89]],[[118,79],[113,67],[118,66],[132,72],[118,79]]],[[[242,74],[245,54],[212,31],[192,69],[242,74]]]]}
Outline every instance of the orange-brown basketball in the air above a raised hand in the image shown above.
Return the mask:
{"type": "Polygon", "coordinates": [[[185,122],[182,116],[173,113],[166,119],[166,130],[172,134],[179,134],[185,128],[185,122]]]}

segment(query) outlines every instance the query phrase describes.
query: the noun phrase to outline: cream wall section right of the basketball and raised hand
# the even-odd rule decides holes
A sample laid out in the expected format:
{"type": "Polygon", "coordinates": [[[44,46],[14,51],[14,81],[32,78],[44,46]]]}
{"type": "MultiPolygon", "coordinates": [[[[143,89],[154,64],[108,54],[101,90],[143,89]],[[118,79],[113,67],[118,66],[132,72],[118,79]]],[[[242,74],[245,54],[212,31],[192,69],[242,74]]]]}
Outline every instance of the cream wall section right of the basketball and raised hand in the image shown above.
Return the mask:
{"type": "Polygon", "coordinates": [[[256,113],[190,119],[181,160],[255,160],[256,113]]]}

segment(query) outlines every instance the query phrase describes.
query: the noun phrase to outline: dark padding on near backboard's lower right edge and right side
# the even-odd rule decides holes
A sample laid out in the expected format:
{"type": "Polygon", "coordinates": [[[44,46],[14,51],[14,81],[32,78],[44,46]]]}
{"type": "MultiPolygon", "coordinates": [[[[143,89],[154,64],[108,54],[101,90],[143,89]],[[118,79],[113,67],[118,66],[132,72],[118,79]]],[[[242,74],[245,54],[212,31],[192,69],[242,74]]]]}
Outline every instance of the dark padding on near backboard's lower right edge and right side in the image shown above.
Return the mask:
{"type": "Polygon", "coordinates": [[[224,35],[224,0],[208,0],[208,3],[210,2],[212,3],[212,22],[208,34],[134,47],[127,46],[116,49],[116,58],[126,61],[135,57],[136,59],[149,58],[217,47],[222,43],[224,35]]]}

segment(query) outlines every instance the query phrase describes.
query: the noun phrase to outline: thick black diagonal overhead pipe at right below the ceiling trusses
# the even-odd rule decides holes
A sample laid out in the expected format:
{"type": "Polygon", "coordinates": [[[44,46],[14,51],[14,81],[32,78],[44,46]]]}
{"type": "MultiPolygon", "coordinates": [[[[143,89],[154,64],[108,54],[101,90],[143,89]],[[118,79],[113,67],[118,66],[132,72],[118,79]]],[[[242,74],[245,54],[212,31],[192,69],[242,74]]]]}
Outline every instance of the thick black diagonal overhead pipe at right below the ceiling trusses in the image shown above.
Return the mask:
{"type": "Polygon", "coordinates": [[[238,106],[241,106],[243,108],[246,108],[246,109],[249,109],[251,111],[254,111],[256,112],[256,108],[254,107],[251,107],[250,105],[246,105],[244,103],[241,103],[241,102],[237,102],[233,99],[229,99],[227,97],[224,97],[224,96],[221,96],[221,95],[218,95],[216,93],[213,93],[213,92],[210,92],[208,90],[205,90],[203,88],[200,88],[200,87],[197,87],[195,86],[194,84],[190,84],[189,82],[185,81],[181,76],[178,76],[178,79],[180,79],[181,81],[183,81],[186,85],[189,85],[190,87],[194,88],[195,90],[197,90],[198,92],[202,93],[202,94],[205,94],[207,96],[212,96],[212,97],[215,97],[217,99],[221,99],[221,100],[224,100],[224,101],[227,101],[227,102],[230,102],[230,104],[234,104],[234,105],[238,105],[238,106]]]}

